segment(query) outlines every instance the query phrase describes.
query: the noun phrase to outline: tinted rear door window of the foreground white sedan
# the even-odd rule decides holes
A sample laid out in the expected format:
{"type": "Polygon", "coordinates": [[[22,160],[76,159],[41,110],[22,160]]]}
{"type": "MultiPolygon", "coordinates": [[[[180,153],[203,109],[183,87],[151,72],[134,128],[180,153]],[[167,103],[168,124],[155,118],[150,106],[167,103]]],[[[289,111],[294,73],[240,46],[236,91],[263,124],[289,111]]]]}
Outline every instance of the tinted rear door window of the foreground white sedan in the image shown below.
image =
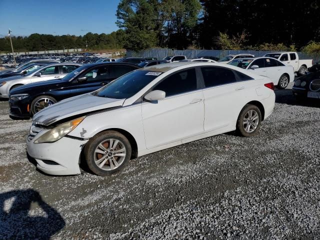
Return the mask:
{"type": "Polygon", "coordinates": [[[232,70],[223,67],[201,67],[205,87],[236,82],[232,70]]]}

